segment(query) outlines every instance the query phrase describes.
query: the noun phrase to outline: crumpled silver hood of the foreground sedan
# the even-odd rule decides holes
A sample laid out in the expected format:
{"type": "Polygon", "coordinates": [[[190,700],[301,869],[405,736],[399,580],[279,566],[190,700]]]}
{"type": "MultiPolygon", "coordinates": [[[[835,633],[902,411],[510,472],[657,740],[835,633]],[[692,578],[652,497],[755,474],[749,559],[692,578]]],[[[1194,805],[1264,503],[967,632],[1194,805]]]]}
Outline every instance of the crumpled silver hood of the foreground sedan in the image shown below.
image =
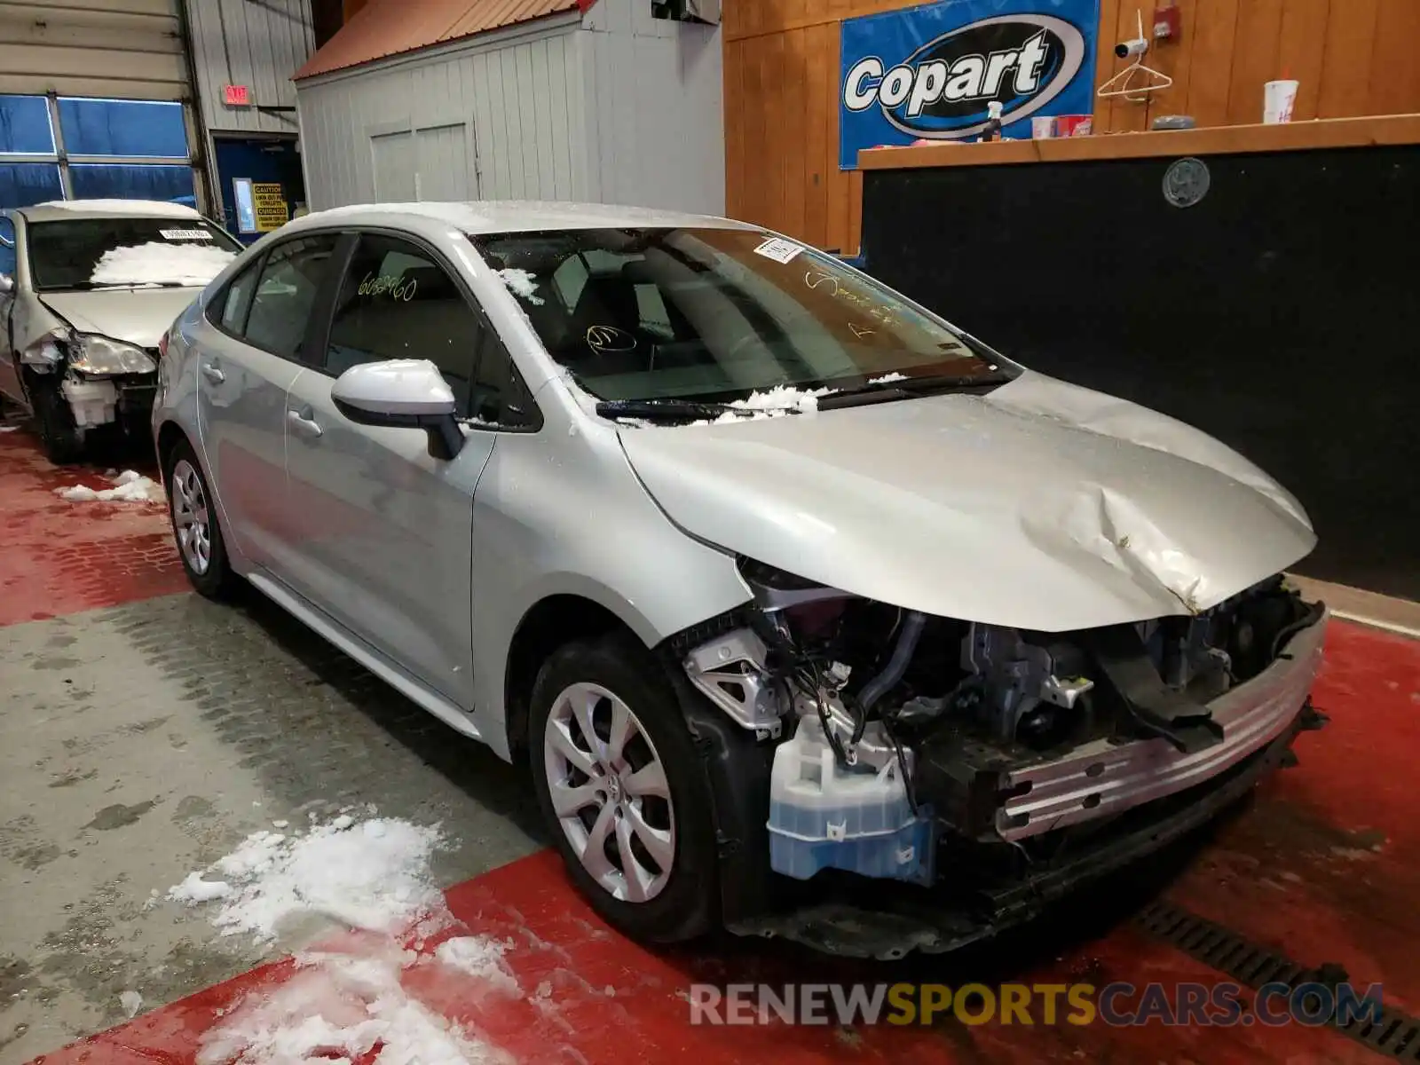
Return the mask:
{"type": "Polygon", "coordinates": [[[1201,611],[1316,542],[1296,500],[1237,452],[1034,372],[987,396],[621,439],[692,535],[966,621],[1065,632],[1201,611]]]}

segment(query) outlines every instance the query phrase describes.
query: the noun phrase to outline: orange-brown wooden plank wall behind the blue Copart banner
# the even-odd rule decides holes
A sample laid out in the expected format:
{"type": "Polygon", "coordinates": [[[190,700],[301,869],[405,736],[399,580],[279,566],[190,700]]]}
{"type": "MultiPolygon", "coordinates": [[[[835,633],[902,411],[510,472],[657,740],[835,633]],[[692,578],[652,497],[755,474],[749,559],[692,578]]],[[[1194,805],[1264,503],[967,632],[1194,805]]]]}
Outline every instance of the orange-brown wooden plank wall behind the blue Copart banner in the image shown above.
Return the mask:
{"type": "MultiPolygon", "coordinates": [[[[811,244],[852,251],[862,178],[838,169],[839,20],[920,0],[724,0],[727,210],[811,244]]],[[[1163,114],[1198,125],[1262,118],[1262,84],[1301,82],[1296,119],[1420,112],[1420,0],[1177,0],[1183,34],[1149,65],[1174,78],[1146,108],[1098,101],[1096,132],[1145,129],[1163,114]]],[[[1100,0],[1095,84],[1125,62],[1153,0],[1100,0]]]]}

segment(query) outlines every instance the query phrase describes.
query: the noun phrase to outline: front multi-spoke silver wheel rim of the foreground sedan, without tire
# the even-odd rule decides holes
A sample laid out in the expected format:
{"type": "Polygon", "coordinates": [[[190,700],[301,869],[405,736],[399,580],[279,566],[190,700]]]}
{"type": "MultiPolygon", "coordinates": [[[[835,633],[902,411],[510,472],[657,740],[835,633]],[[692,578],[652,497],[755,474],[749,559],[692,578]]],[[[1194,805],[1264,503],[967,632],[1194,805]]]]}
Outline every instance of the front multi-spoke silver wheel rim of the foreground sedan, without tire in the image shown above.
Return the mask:
{"type": "Polygon", "coordinates": [[[670,879],[676,818],[666,768],[636,714],[601,684],[569,684],[542,738],[558,824],[612,897],[648,902],[670,879]]]}

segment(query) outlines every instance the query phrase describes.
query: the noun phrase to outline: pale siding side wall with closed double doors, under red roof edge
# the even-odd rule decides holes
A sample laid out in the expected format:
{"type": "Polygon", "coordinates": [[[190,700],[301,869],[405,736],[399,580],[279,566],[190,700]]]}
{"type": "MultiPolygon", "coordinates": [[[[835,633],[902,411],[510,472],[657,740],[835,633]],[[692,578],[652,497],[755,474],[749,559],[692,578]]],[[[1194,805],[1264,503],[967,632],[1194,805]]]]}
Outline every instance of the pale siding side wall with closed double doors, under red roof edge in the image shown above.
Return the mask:
{"type": "Polygon", "coordinates": [[[302,82],[311,209],[585,199],[578,27],[575,16],[542,20],[302,82]]]}

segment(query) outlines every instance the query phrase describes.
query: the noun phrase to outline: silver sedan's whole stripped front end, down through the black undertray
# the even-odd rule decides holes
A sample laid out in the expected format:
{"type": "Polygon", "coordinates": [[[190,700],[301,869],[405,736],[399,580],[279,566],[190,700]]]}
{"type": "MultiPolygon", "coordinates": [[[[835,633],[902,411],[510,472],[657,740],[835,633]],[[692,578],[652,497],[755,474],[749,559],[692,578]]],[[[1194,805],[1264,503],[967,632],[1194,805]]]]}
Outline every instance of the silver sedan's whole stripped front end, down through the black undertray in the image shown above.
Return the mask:
{"type": "MultiPolygon", "coordinates": [[[[720,785],[757,797],[765,834],[744,843],[777,875],[774,900],[726,907],[743,934],[954,949],[1207,822],[1323,720],[1309,690],[1328,612],[1282,577],[1047,633],[738,565],[753,604],[676,650],[767,765],[720,785]]],[[[733,858],[736,876],[755,865],[733,858]]]]}

